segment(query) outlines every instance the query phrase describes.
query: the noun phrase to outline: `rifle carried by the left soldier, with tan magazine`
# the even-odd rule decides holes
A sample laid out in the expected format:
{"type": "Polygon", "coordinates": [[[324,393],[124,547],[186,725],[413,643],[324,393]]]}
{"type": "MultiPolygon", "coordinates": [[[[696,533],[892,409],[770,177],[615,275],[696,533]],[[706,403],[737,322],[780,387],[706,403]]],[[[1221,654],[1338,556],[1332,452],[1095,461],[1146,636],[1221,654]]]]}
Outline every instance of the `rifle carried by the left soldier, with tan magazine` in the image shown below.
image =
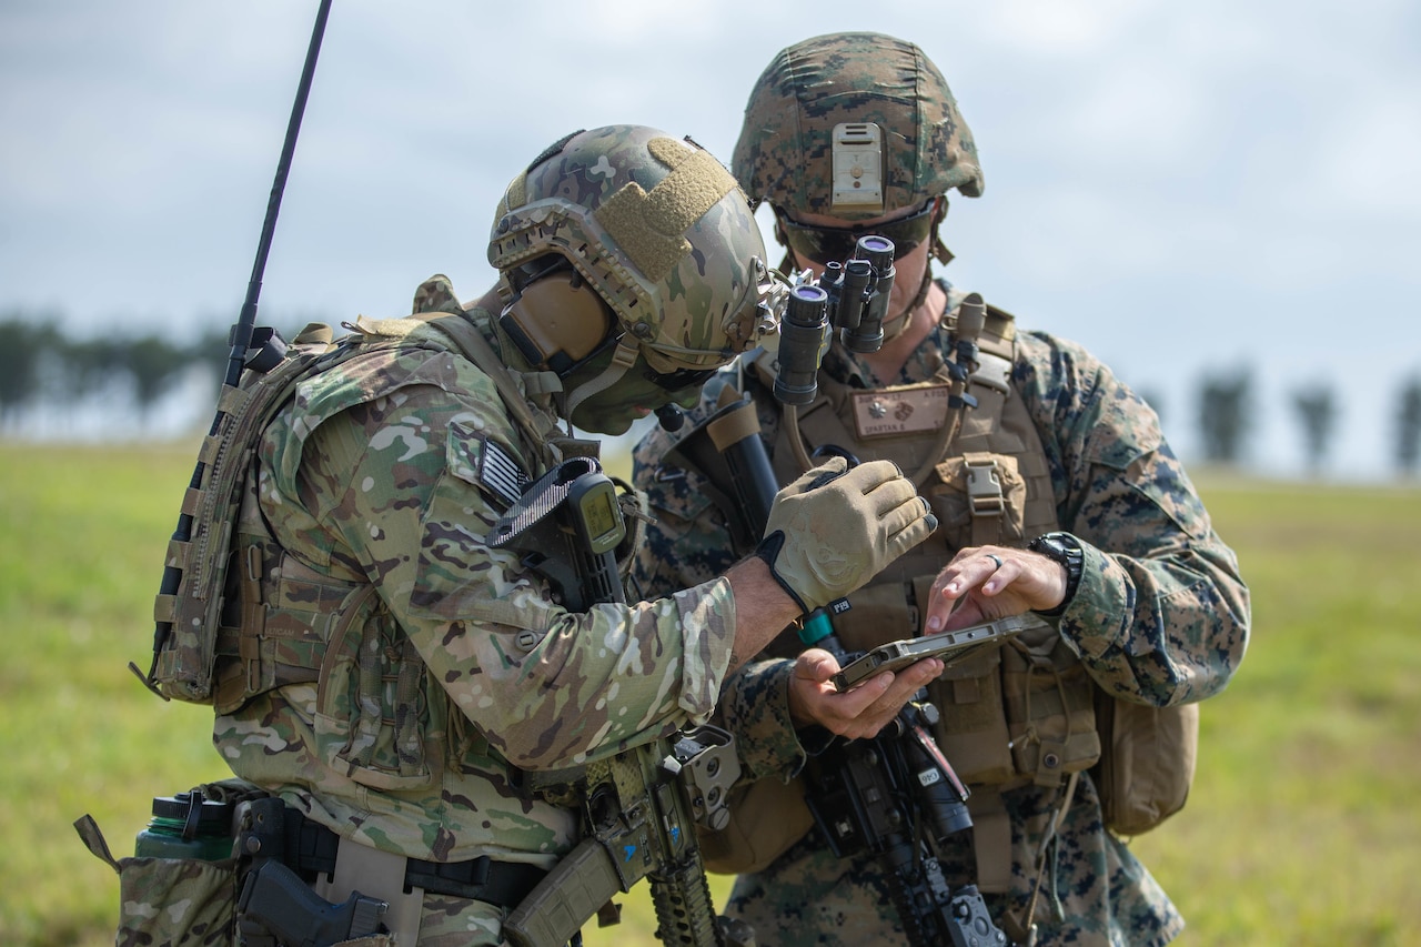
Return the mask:
{"type": "MultiPolygon", "coordinates": [[[[486,542],[523,553],[573,610],[624,601],[615,549],[627,533],[615,488],[597,461],[573,458],[523,491],[486,542]]],[[[730,734],[678,731],[571,771],[529,772],[526,785],[554,805],[581,810],[583,840],[503,921],[516,947],[558,947],[594,914],[617,923],[611,903],[649,879],[657,937],[665,944],[725,947],[701,860],[696,826],[729,820],[740,775],[730,734]]],[[[730,943],[749,947],[746,933],[730,943]]]]}

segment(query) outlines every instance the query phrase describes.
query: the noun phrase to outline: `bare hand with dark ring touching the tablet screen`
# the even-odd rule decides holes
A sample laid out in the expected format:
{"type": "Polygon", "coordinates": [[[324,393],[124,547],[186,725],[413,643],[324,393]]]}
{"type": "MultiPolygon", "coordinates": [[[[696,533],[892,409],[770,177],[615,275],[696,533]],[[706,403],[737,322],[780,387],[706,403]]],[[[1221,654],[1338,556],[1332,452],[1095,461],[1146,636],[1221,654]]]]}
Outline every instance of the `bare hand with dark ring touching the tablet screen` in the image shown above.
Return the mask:
{"type": "Polygon", "coordinates": [[[1027,549],[962,549],[932,583],[926,634],[1054,609],[1066,599],[1066,567],[1027,549]]]}

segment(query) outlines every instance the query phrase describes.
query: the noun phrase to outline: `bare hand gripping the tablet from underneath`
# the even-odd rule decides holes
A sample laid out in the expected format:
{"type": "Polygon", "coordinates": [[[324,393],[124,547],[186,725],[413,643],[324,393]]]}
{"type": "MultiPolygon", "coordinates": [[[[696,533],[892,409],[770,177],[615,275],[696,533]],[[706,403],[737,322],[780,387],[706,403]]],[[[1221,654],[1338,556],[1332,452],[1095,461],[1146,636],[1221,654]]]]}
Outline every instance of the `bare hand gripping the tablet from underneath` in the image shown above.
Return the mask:
{"type": "Polygon", "coordinates": [[[818,724],[848,739],[874,737],[928,681],[942,674],[942,661],[925,658],[884,671],[840,694],[830,678],[840,670],[834,656],[807,648],[790,675],[790,717],[797,725],[818,724]]]}

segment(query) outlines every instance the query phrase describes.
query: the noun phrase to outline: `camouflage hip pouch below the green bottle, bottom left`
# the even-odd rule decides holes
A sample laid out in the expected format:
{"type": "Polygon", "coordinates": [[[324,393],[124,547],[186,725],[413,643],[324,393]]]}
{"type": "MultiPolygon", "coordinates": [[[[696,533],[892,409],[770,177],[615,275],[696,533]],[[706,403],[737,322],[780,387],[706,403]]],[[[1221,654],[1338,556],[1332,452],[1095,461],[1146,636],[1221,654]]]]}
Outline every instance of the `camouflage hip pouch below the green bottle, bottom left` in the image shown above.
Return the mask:
{"type": "Polygon", "coordinates": [[[74,823],[88,850],[118,873],[118,944],[229,947],[236,943],[237,859],[115,859],[92,816],[74,823]]]}

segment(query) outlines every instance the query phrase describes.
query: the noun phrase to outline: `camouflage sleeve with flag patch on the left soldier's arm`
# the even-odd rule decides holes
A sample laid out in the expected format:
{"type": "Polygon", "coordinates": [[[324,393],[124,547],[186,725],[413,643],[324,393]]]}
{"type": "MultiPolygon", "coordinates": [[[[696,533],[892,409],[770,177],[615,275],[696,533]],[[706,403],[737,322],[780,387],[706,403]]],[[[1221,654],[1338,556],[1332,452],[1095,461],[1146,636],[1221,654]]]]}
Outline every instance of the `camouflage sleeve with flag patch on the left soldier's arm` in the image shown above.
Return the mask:
{"type": "Polygon", "coordinates": [[[364,573],[458,707],[514,765],[611,755],[715,707],[735,601],[713,579],[654,601],[573,613],[516,553],[483,545],[496,508],[485,439],[517,456],[492,381],[436,360],[307,439],[298,493],[323,543],[364,573]]]}

